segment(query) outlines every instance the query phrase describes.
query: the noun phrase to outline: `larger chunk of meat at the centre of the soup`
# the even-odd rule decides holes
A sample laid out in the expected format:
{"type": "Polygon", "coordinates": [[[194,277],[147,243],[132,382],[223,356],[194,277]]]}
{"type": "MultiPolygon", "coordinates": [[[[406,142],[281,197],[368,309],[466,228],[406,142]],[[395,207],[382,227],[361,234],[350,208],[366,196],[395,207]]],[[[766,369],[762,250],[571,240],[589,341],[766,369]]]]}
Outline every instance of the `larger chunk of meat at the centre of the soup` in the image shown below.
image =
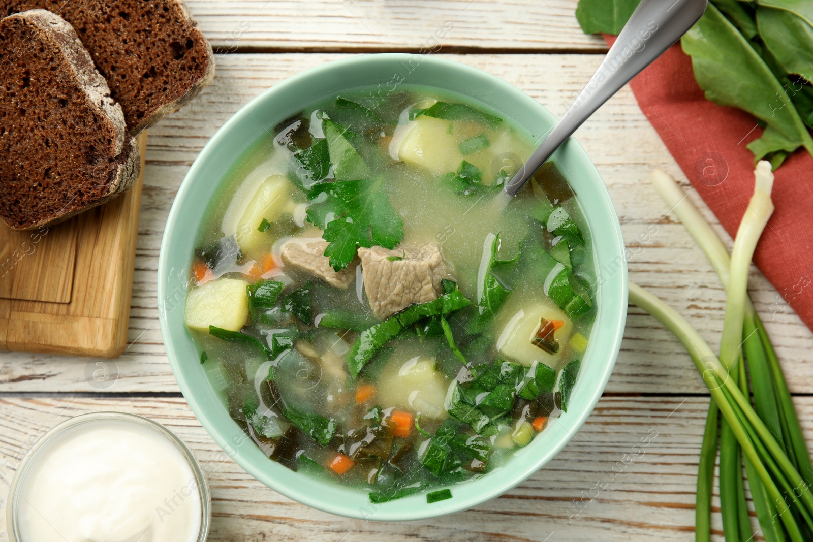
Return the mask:
{"type": "Polygon", "coordinates": [[[437,245],[359,248],[359,258],[364,291],[376,318],[385,319],[413,303],[441,295],[446,267],[437,245]]]}

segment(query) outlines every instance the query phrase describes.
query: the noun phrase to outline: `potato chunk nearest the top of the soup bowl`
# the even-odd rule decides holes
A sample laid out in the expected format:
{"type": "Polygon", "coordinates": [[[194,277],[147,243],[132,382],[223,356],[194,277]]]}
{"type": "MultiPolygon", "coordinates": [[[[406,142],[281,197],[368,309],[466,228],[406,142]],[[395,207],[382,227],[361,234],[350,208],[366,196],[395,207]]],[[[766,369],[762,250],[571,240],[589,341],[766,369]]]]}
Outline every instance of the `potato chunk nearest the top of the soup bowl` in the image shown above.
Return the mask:
{"type": "Polygon", "coordinates": [[[463,155],[457,138],[450,132],[452,123],[428,116],[420,116],[412,122],[415,126],[406,134],[398,158],[437,175],[457,171],[463,155]]]}

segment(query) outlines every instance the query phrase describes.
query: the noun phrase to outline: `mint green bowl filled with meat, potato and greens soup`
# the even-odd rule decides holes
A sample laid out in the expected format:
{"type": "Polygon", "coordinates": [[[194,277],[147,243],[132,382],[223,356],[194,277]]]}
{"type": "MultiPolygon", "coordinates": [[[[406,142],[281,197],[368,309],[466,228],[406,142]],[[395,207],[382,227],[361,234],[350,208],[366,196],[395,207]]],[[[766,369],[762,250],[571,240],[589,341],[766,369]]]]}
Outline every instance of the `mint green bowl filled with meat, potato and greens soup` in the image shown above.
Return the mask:
{"type": "Polygon", "coordinates": [[[212,137],[167,219],[159,314],[203,427],[250,475],[353,518],[470,508],[593,410],[620,349],[624,243],[519,89],[413,54],[326,63],[212,137]]]}

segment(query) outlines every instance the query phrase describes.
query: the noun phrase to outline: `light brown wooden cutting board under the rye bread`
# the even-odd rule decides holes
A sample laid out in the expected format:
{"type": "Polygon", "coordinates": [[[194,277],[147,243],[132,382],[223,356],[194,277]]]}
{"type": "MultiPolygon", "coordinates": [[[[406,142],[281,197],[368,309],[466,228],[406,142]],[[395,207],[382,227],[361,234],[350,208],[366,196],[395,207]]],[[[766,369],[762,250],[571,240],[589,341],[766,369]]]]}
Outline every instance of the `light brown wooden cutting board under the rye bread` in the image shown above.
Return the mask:
{"type": "MultiPolygon", "coordinates": [[[[72,291],[61,302],[37,301],[17,288],[14,299],[2,300],[0,310],[0,347],[10,350],[114,358],[124,350],[128,329],[128,306],[133,291],[139,202],[144,178],[146,132],[138,137],[141,150],[141,175],[128,192],[113,198],[70,220],[67,232],[75,241],[71,245],[75,258],[67,258],[56,246],[54,254],[46,250],[53,243],[23,258],[20,267],[35,271],[37,262],[45,259],[54,266],[69,266],[72,291]],[[63,262],[54,260],[63,256],[63,262]]],[[[59,225],[53,228],[54,239],[65,239],[59,225]]],[[[43,239],[50,241],[47,234],[43,239]]],[[[66,239],[67,241],[67,239],[66,239]]],[[[46,241],[42,241],[45,243],[46,241]]],[[[43,264],[44,265],[44,264],[43,264]]],[[[41,267],[41,266],[40,266],[41,267]]],[[[59,273],[62,276],[63,273],[59,273]]],[[[40,274],[25,277],[29,289],[37,291],[40,274]]]]}

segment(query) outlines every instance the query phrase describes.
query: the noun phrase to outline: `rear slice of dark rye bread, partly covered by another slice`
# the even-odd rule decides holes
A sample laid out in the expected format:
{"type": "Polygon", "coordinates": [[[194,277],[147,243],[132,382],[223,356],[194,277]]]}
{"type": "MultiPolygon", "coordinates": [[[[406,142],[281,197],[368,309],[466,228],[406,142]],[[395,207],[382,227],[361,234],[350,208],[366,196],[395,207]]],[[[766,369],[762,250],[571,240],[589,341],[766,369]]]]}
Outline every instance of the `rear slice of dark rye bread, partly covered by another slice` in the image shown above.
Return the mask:
{"type": "Polygon", "coordinates": [[[76,28],[133,136],[215,76],[211,46],[183,0],[0,0],[0,16],[35,8],[76,28]]]}

